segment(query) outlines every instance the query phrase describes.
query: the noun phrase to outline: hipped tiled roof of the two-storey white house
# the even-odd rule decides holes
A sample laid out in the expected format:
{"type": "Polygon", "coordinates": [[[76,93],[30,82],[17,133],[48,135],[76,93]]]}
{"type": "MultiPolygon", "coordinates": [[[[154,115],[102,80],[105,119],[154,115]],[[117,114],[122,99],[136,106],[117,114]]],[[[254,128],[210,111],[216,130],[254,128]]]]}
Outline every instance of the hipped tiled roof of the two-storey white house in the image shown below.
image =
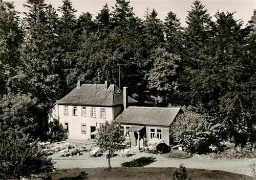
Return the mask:
{"type": "MultiPolygon", "coordinates": [[[[57,102],[59,105],[117,106],[123,105],[123,92],[113,84],[106,93],[103,84],[83,84],[57,102]]],[[[137,101],[128,97],[129,104],[135,102],[137,101]]]]}

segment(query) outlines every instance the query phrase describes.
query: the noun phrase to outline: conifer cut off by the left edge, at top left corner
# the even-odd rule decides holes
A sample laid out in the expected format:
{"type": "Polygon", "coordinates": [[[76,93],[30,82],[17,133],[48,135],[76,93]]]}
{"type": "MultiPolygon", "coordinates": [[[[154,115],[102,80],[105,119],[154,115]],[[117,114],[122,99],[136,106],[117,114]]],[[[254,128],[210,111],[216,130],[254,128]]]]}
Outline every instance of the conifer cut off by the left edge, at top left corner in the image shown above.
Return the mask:
{"type": "Polygon", "coordinates": [[[0,0],[0,98],[7,94],[9,78],[14,76],[22,63],[20,46],[23,31],[13,3],[0,0]]]}

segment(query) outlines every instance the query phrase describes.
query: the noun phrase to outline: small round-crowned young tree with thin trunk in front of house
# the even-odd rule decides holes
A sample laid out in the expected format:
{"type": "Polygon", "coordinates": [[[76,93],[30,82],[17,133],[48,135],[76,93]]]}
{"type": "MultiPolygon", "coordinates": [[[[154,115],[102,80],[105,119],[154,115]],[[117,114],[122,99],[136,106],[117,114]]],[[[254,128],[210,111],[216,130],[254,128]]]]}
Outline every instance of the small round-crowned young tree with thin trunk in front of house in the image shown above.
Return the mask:
{"type": "Polygon", "coordinates": [[[102,126],[96,136],[96,144],[103,150],[109,151],[109,168],[110,165],[110,157],[116,150],[122,149],[122,143],[125,137],[123,131],[121,130],[121,126],[116,121],[112,121],[109,123],[105,122],[105,125],[102,126]]]}

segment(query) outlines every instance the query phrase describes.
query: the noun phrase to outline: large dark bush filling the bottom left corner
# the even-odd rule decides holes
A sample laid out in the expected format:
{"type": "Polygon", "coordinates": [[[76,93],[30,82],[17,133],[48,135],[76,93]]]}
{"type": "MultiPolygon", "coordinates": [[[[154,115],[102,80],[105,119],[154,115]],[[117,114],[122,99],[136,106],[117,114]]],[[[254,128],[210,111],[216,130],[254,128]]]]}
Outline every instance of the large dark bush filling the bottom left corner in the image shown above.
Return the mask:
{"type": "Polygon", "coordinates": [[[52,171],[54,162],[42,151],[38,141],[14,129],[0,134],[1,179],[29,178],[31,174],[52,171]]]}

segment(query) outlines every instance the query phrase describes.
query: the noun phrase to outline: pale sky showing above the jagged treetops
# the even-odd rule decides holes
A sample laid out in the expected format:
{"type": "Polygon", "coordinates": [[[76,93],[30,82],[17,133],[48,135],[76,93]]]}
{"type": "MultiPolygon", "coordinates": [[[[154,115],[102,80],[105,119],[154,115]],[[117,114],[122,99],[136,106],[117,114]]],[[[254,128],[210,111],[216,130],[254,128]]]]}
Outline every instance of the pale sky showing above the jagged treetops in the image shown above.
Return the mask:
{"type": "MultiPolygon", "coordinates": [[[[23,7],[25,0],[5,0],[9,2],[14,2],[16,10],[19,12],[24,12],[26,9],[23,7]]],[[[115,0],[72,0],[74,9],[77,10],[77,16],[79,16],[82,12],[90,12],[93,15],[97,15],[97,13],[102,9],[103,5],[107,3],[111,8],[114,6],[115,0]]],[[[166,14],[169,11],[173,11],[177,14],[177,16],[181,20],[182,26],[185,26],[185,18],[187,15],[187,11],[191,9],[191,5],[193,3],[192,0],[131,0],[130,5],[134,8],[134,12],[137,16],[143,17],[146,8],[148,7],[150,10],[153,8],[158,12],[158,17],[160,19],[164,19],[166,14]]],[[[243,19],[245,23],[250,20],[253,10],[256,9],[256,0],[240,0],[240,1],[209,1],[204,0],[201,1],[205,7],[208,9],[210,15],[214,15],[218,10],[219,11],[229,11],[237,13],[234,15],[237,19],[243,19]]],[[[58,6],[62,5],[61,0],[46,0],[47,4],[52,4],[53,7],[58,8],[58,6]]]]}

